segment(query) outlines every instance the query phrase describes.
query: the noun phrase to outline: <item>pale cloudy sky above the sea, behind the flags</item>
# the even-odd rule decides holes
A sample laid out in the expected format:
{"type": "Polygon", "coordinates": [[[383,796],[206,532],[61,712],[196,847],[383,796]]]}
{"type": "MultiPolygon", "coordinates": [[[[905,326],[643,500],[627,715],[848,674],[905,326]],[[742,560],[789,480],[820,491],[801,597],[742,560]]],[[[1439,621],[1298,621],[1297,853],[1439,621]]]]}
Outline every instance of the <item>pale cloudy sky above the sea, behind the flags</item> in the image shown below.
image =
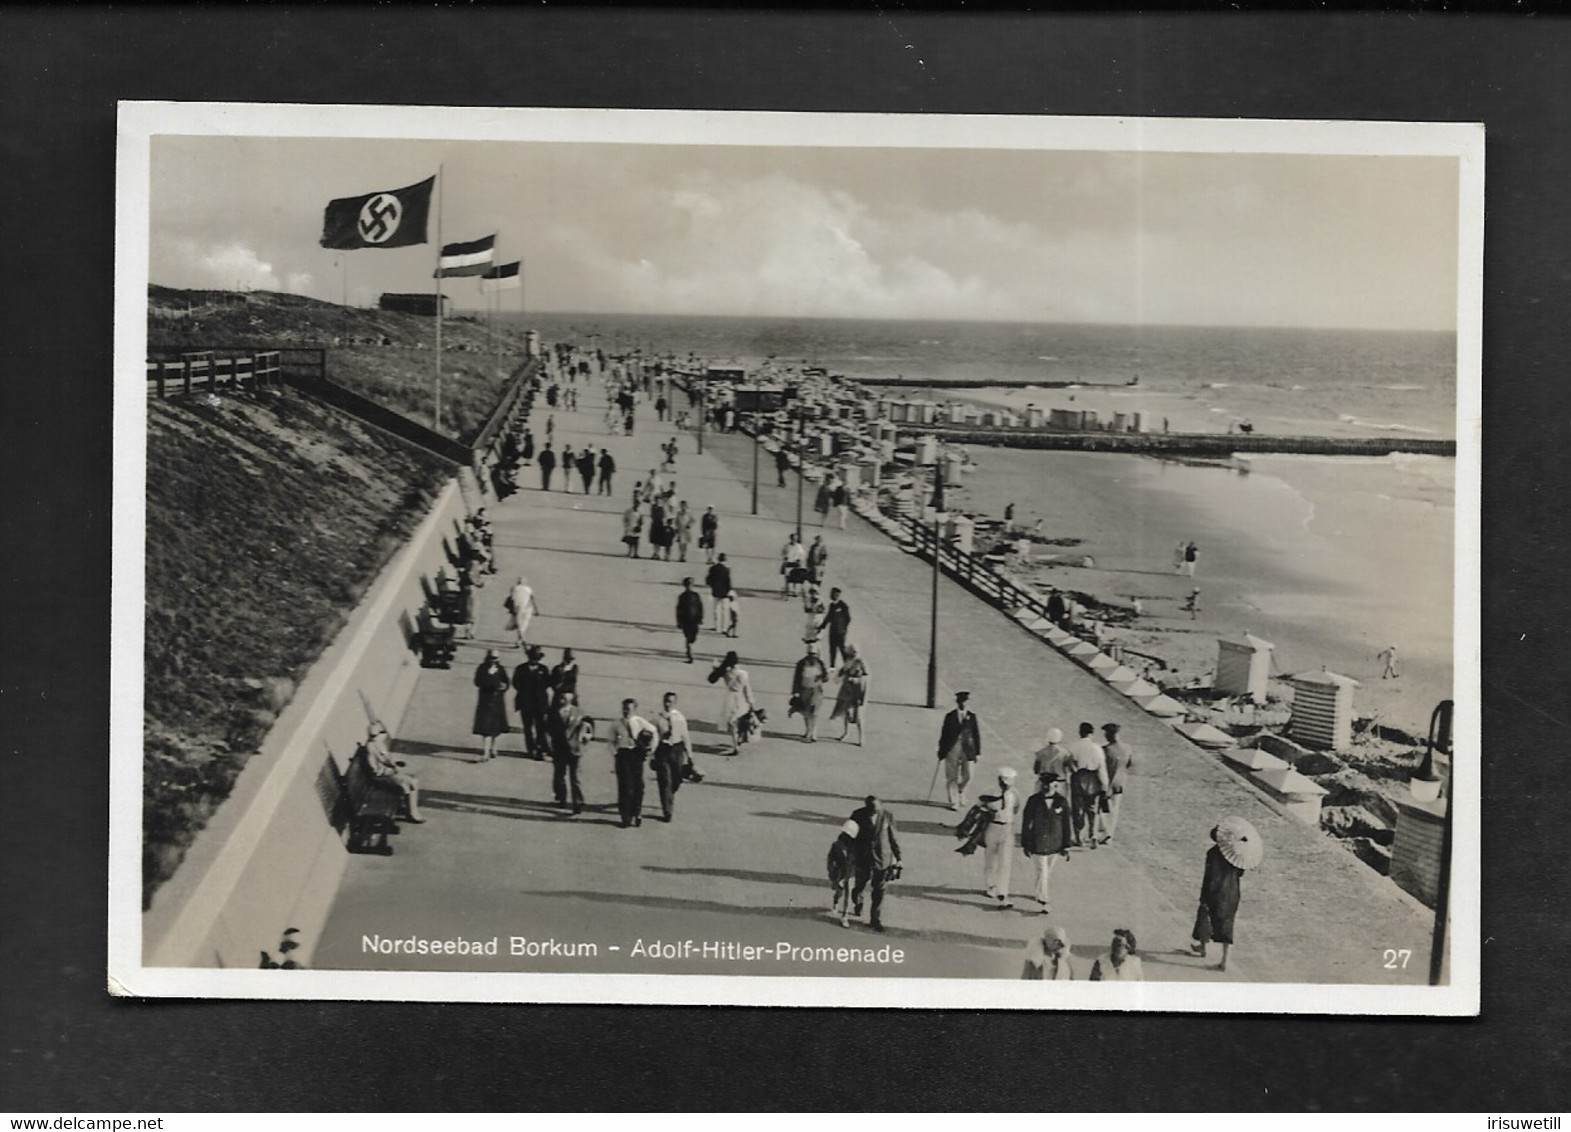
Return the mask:
{"type": "MultiPolygon", "coordinates": [[[[159,137],[149,278],[350,301],[434,246],[319,246],[443,168],[537,311],[1455,328],[1448,157],[159,137]]],[[[432,221],[435,242],[435,221],[432,221]]],[[[484,306],[451,279],[460,306],[484,306]]],[[[509,306],[517,292],[504,295],[509,306]]]]}

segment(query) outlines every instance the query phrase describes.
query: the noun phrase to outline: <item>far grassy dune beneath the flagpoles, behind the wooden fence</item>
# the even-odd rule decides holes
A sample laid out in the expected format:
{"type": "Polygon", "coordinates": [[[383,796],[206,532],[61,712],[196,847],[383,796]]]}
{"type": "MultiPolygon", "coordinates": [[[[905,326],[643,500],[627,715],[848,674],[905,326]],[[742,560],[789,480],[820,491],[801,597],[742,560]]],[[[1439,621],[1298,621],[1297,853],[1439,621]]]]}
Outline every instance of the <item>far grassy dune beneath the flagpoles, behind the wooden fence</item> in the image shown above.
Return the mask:
{"type": "MultiPolygon", "coordinates": [[[[149,349],[327,347],[327,375],[432,427],[437,320],[325,303],[272,290],[148,289],[149,349]]],[[[459,441],[479,432],[506,375],[523,361],[517,325],[449,316],[441,330],[441,429],[459,441]]]]}

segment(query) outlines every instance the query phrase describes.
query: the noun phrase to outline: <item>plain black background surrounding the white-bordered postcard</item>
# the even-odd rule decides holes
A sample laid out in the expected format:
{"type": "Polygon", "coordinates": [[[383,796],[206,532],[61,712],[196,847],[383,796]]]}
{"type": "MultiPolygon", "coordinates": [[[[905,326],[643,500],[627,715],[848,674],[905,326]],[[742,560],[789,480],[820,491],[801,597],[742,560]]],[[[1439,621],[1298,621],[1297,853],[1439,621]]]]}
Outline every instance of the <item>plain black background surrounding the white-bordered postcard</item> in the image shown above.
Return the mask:
{"type": "Polygon", "coordinates": [[[1571,1107],[1568,96],[1566,22],[1441,5],[0,9],[0,1108],[1571,1107]],[[108,999],[118,99],[1485,122],[1483,1017],[108,999]]]}

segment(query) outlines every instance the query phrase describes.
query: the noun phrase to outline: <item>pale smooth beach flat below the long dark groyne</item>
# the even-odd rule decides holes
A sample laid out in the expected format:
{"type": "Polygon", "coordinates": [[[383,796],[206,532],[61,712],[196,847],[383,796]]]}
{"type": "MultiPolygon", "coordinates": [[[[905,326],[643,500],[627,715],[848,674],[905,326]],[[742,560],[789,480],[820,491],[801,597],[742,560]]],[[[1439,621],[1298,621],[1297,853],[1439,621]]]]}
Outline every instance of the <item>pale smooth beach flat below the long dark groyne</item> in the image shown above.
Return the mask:
{"type": "MultiPolygon", "coordinates": [[[[1032,567],[1032,576],[1144,612],[1109,641],[1159,656],[1163,683],[1210,683],[1218,637],[1254,633],[1276,645],[1273,672],[1321,666],[1360,681],[1357,718],[1422,735],[1452,696],[1452,531],[1455,507],[1433,466],[1351,457],[1265,457],[1243,474],[1148,457],[974,449],[979,469],[950,507],[1043,520],[1032,559],[1089,554],[1095,567],[1032,567]],[[1200,548],[1196,578],[1174,570],[1183,540],[1200,548]],[[1183,603],[1200,589],[1191,619],[1183,603]],[[1401,675],[1376,658],[1395,644],[1401,675]]],[[[979,546],[982,550],[982,546],[979,546]]]]}

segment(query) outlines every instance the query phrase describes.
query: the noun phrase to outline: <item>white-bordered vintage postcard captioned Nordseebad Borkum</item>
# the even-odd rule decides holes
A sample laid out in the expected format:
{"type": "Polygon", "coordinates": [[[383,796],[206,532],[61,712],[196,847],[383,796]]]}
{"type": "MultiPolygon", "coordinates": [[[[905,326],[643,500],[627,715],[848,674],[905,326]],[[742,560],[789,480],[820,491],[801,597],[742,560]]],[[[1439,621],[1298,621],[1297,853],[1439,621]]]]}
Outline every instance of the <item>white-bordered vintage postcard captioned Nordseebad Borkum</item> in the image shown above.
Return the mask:
{"type": "Polygon", "coordinates": [[[118,177],[112,992],[1477,1013],[1481,126],[118,177]]]}

